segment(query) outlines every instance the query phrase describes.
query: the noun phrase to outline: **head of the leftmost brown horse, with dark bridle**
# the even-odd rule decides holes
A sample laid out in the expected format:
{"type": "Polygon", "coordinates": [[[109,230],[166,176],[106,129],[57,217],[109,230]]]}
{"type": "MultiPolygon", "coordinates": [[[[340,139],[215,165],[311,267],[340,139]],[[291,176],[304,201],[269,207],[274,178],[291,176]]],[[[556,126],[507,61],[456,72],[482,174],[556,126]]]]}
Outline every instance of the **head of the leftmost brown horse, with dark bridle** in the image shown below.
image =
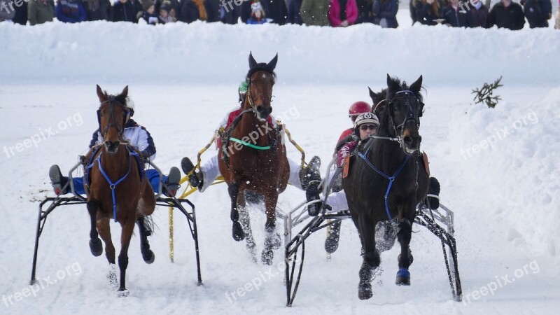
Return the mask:
{"type": "Polygon", "coordinates": [[[123,137],[125,124],[130,112],[127,110],[128,85],[118,95],[108,95],[97,85],[97,96],[99,97],[99,109],[97,110],[97,121],[99,132],[103,137],[105,149],[109,154],[115,154],[123,137]]]}

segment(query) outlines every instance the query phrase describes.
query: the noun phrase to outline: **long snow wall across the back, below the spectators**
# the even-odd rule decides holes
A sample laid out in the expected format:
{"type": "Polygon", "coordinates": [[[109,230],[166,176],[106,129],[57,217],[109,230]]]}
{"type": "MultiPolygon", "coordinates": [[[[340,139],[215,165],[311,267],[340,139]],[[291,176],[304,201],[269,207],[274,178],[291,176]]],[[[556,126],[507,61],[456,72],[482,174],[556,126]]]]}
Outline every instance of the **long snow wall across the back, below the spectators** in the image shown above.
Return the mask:
{"type": "Polygon", "coordinates": [[[231,82],[279,53],[283,81],[369,82],[394,73],[432,83],[558,82],[560,32],[444,26],[346,29],[299,25],[0,23],[2,83],[231,82]]]}

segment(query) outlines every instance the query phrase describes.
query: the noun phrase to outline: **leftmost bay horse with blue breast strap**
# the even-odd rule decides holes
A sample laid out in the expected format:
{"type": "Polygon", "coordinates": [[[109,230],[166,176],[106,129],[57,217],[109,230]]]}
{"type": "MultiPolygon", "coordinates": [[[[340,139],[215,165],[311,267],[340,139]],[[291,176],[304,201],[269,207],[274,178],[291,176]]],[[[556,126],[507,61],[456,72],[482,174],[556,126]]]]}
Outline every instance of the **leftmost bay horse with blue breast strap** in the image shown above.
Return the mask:
{"type": "Polygon", "coordinates": [[[148,244],[151,229],[147,224],[148,218],[155,209],[155,195],[146,176],[142,176],[140,159],[127,142],[123,139],[124,126],[130,115],[126,102],[128,86],[123,92],[113,96],[103,92],[97,85],[99,110],[97,120],[99,132],[103,137],[103,144],[99,144],[97,151],[90,152],[90,165],[86,169],[90,174],[90,188],[87,196],[87,211],[91,218],[90,250],[94,256],[102,254],[103,245],[99,236],[105,242],[105,255],[111,270],[109,282],[118,286],[120,296],[128,295],[125,287],[125,275],[128,266],[128,246],[137,223],[140,230],[140,244],[142,258],[147,263],[155,259],[148,244]],[[111,241],[109,221],[113,218],[120,223],[120,253],[118,267],[120,281],[117,282],[115,267],[115,247],[111,241]]]}

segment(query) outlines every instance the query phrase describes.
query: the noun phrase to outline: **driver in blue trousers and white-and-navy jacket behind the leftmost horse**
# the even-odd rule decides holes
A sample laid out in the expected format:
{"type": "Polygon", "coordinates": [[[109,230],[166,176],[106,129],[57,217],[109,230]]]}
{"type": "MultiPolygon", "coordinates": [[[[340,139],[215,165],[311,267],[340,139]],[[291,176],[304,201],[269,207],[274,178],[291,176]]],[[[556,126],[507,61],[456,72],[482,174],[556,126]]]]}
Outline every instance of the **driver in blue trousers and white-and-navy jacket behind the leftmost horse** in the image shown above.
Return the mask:
{"type": "MultiPolygon", "coordinates": [[[[125,130],[123,132],[123,138],[130,142],[131,146],[137,149],[141,158],[146,158],[153,161],[155,159],[155,145],[152,136],[144,126],[139,125],[137,122],[132,120],[134,116],[134,102],[130,97],[126,99],[126,111],[127,118],[125,123],[125,130]]],[[[92,140],[90,141],[90,150],[102,144],[103,137],[99,129],[95,130],[92,135],[92,140]]],[[[160,174],[155,169],[147,169],[145,171],[145,176],[148,181],[150,181],[153,191],[158,193],[160,189],[160,174]]],[[[66,183],[68,182],[68,177],[62,176],[60,168],[58,165],[52,165],[49,170],[50,182],[52,183],[52,188],[55,190],[56,195],[64,195],[70,193],[69,186],[62,190],[66,183]]],[[[179,181],[181,181],[181,172],[177,167],[172,167],[169,170],[169,176],[162,176],[162,181],[166,183],[169,190],[165,190],[164,195],[171,197],[176,195],[179,189],[179,181]]],[[[83,177],[73,178],[74,191],[78,195],[85,194],[83,177]]],[[[165,189],[165,188],[164,188],[165,189]]]]}

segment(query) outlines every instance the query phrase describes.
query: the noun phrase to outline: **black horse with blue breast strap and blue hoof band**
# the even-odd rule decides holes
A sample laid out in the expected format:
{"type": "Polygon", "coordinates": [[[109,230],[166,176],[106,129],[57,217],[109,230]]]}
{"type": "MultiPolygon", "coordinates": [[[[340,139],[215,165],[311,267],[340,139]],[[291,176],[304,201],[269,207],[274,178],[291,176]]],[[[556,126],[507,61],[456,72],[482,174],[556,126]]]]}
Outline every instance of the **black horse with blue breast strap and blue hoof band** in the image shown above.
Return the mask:
{"type": "MultiPolygon", "coordinates": [[[[420,158],[419,134],[423,103],[422,76],[412,85],[387,75],[386,98],[374,106],[380,125],[377,134],[363,141],[342,186],[362,243],[358,297],[372,297],[371,281],[381,262],[375,244],[375,225],[395,221],[400,243],[395,283],[410,285],[409,243],[416,205],[428,193],[428,173],[420,158]]],[[[372,95],[373,97],[373,95],[372,95]]],[[[374,104],[375,105],[375,104],[374,104]]]]}

